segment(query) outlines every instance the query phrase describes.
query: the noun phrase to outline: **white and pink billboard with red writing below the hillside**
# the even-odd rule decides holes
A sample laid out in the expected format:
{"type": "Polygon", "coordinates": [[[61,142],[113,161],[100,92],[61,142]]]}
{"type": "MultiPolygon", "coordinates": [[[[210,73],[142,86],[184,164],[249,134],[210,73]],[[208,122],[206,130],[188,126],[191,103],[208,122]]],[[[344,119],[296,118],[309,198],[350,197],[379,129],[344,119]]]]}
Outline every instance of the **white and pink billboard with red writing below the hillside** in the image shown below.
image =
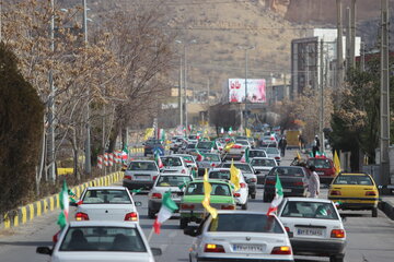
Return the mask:
{"type": "MultiPolygon", "coordinates": [[[[266,103],[266,81],[264,79],[247,79],[247,102],[266,103]]],[[[229,79],[229,102],[245,102],[245,79],[229,79]]]]}

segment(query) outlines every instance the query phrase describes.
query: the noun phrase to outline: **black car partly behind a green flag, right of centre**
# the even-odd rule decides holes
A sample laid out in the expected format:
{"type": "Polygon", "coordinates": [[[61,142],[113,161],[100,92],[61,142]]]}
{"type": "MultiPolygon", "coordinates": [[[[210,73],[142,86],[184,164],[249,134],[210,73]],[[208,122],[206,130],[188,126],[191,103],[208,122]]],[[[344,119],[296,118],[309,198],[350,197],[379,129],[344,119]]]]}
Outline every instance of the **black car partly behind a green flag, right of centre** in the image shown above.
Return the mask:
{"type": "Polygon", "coordinates": [[[264,202],[273,201],[275,196],[276,177],[279,176],[285,196],[306,196],[308,170],[299,166],[277,166],[266,176],[264,182],[264,202]]]}

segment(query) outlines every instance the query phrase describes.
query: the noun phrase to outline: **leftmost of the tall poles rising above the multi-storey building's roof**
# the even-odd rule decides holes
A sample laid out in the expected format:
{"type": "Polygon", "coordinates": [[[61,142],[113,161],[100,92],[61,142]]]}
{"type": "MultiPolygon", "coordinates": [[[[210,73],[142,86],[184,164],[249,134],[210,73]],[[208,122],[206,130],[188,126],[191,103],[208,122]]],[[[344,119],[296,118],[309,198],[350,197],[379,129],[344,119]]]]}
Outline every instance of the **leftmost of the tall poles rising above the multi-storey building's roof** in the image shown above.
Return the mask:
{"type": "Polygon", "coordinates": [[[336,87],[343,86],[344,81],[344,47],[343,47],[343,3],[337,0],[337,81],[336,87]]]}

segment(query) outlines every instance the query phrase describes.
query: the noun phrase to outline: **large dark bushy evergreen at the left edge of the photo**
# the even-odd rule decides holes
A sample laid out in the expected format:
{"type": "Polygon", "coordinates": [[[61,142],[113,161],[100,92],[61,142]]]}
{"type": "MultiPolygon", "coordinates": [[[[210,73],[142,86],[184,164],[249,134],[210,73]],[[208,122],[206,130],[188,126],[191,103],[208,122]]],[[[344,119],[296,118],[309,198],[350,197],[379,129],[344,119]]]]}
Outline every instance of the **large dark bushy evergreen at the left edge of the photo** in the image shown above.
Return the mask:
{"type": "Polygon", "coordinates": [[[34,192],[43,132],[43,105],[0,44],[0,215],[34,192]]]}

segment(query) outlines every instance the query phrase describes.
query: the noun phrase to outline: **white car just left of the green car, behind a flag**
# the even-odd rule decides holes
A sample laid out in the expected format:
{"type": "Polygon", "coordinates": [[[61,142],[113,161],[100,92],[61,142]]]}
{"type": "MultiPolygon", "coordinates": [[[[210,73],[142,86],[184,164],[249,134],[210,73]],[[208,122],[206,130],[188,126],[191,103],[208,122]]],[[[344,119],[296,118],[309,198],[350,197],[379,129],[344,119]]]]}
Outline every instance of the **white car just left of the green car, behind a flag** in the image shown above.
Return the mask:
{"type": "Polygon", "coordinates": [[[154,218],[160,211],[163,194],[171,191],[171,199],[178,204],[184,194],[184,186],[193,181],[193,177],[182,174],[162,174],[154,182],[153,188],[148,193],[148,216],[154,218]]]}

